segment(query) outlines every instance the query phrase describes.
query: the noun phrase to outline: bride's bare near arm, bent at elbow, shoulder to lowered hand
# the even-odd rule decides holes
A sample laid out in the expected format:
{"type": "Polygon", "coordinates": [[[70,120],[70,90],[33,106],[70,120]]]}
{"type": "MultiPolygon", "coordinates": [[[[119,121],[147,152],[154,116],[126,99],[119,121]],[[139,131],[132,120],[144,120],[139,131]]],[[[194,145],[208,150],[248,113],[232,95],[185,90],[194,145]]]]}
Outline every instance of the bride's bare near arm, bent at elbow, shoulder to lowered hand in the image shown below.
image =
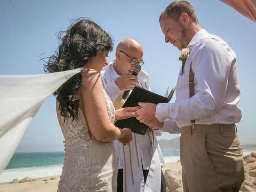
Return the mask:
{"type": "Polygon", "coordinates": [[[130,142],[130,129],[119,129],[109,120],[100,74],[95,70],[87,70],[86,74],[82,74],[82,84],[85,87],[81,89],[84,111],[92,135],[101,142],[116,139],[130,142]]]}

